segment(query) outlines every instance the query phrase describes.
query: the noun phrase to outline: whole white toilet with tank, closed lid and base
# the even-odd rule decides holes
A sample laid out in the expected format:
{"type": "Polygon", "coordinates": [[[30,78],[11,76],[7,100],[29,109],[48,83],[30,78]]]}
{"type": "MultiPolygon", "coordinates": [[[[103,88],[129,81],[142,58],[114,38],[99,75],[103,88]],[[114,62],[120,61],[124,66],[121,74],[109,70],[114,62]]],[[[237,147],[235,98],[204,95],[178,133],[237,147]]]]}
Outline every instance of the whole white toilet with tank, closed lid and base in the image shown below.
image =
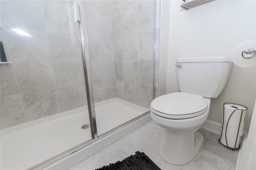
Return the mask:
{"type": "Polygon", "coordinates": [[[163,128],[160,155],[182,165],[192,160],[204,142],[197,130],[208,117],[211,98],[224,89],[232,62],[228,56],[187,57],[178,58],[176,66],[181,92],[154,99],[150,115],[163,128]]]}

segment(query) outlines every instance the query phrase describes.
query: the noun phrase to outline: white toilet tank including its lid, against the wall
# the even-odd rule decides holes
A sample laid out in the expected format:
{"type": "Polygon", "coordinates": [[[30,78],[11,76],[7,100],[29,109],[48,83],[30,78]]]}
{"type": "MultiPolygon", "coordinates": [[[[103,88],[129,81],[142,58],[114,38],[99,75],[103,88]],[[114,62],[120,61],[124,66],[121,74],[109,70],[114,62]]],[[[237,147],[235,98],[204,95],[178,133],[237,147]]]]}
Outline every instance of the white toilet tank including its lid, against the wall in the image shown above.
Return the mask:
{"type": "Polygon", "coordinates": [[[216,98],[224,89],[231,69],[231,59],[224,57],[178,58],[180,89],[203,97],[216,98]]]}

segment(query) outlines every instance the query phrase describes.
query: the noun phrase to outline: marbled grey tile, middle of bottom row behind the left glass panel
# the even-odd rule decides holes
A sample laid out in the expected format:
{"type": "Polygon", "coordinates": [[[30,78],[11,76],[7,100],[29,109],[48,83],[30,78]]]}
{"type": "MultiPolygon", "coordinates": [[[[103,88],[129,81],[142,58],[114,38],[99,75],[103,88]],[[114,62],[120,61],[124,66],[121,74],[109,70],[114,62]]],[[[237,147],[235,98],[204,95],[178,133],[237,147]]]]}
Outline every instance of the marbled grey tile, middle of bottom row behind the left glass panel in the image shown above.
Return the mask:
{"type": "Polygon", "coordinates": [[[56,91],[40,91],[22,95],[27,121],[34,121],[59,113],[56,91]]]}

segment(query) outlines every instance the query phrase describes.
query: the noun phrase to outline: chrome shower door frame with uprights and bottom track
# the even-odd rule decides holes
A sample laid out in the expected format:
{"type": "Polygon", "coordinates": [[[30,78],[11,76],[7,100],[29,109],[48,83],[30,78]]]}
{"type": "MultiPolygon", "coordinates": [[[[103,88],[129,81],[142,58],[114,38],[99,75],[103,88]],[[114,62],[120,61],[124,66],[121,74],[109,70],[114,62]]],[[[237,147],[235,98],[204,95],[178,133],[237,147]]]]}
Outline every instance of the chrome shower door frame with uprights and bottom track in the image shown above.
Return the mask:
{"type": "MultiPolygon", "coordinates": [[[[95,113],[95,106],[94,106],[94,95],[93,95],[93,87],[92,87],[92,75],[91,75],[91,69],[90,69],[90,58],[89,58],[89,50],[88,50],[88,36],[86,32],[86,23],[82,22],[85,21],[85,12],[84,12],[84,1],[83,0],[74,0],[74,14],[75,14],[75,21],[78,22],[79,26],[79,38],[80,38],[80,44],[82,48],[82,60],[83,60],[83,66],[84,66],[84,78],[85,78],[85,84],[86,84],[86,95],[87,95],[87,101],[88,101],[88,110],[89,110],[89,117],[90,117],[90,127],[91,127],[91,134],[92,139],[85,141],[77,146],[74,146],[73,148],[70,148],[69,150],[66,150],[64,153],[60,153],[52,158],[49,158],[48,160],[41,162],[40,164],[37,164],[29,169],[52,169],[58,167],[58,164],[64,159],[72,159],[71,156],[75,154],[76,152],[80,152],[82,149],[87,148],[88,146],[99,142],[100,140],[104,140],[104,138],[107,138],[108,136],[118,133],[118,131],[124,130],[124,127],[127,127],[129,125],[134,125],[138,121],[142,120],[142,122],[145,122],[149,120],[150,118],[150,111],[98,136],[97,132],[97,126],[96,126],[96,113],[95,113]],[[82,10],[80,10],[82,9],[82,10]]],[[[155,0],[155,42],[154,42],[154,86],[153,86],[153,98],[157,97],[155,93],[155,87],[156,87],[156,56],[159,55],[159,49],[160,44],[157,42],[158,40],[158,34],[157,32],[159,29],[157,28],[157,24],[160,21],[160,10],[161,9],[161,1],[155,0]]],[[[159,82],[158,82],[159,84],[159,82]]],[[[159,87],[159,85],[157,86],[159,87]]],[[[158,88],[159,91],[159,88],[158,88]]],[[[138,123],[136,124],[138,126],[138,123]]],[[[129,130],[124,130],[128,132],[129,130]]],[[[78,163],[78,162],[77,162],[78,163]]],[[[68,163],[62,163],[62,167],[68,166],[68,163]]],[[[73,165],[74,166],[74,165],[73,165]]]]}

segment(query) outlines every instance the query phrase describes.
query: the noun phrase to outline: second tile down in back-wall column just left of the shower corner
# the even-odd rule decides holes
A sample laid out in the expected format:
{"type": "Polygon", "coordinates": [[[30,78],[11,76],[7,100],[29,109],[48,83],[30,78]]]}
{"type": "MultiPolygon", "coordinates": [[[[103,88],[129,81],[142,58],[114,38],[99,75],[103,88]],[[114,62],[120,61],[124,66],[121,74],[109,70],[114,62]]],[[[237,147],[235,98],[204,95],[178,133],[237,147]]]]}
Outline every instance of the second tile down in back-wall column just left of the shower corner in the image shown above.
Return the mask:
{"type": "Polygon", "coordinates": [[[102,61],[113,60],[113,41],[112,40],[101,40],[101,59],[102,61]]]}

